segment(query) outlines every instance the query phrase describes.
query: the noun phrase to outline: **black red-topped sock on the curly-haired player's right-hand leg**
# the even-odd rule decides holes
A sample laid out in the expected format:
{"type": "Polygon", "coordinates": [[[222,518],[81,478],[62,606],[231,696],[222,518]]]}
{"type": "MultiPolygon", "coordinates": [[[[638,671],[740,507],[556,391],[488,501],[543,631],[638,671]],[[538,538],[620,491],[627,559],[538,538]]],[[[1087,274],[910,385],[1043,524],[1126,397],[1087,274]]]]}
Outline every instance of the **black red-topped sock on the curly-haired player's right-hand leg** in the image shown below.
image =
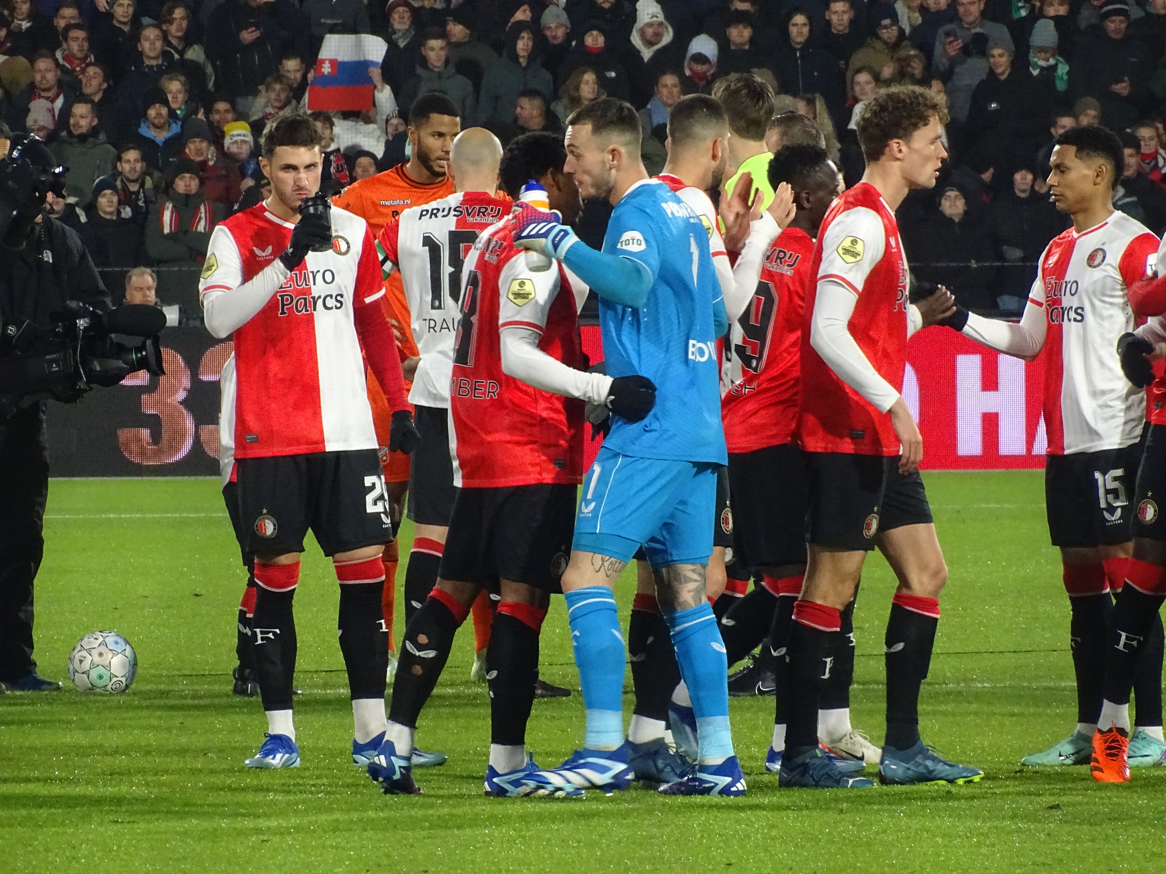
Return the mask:
{"type": "Polygon", "coordinates": [[[919,742],[919,689],[927,678],[940,621],[940,602],[897,592],[886,623],[886,746],[919,742]]]}

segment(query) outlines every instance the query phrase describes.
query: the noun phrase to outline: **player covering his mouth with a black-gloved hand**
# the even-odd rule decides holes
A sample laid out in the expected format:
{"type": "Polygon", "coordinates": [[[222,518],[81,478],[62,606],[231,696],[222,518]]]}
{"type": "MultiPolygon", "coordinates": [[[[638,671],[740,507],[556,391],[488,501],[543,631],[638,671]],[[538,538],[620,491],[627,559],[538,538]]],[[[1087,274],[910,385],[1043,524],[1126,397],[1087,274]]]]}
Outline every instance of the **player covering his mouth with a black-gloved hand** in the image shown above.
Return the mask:
{"type": "Polygon", "coordinates": [[[340,649],[349,671],[353,759],[385,731],[387,633],[380,554],[393,538],[365,392],[361,345],[393,406],[393,443],[416,440],[364,219],[301,213],[319,189],[319,134],[303,115],[273,122],[260,165],[272,196],[215,228],[199,291],[206,327],[233,334],[239,513],[255,556],[255,675],[267,740],[253,768],[295,767],[292,599],[310,528],[340,582],[340,649]]]}

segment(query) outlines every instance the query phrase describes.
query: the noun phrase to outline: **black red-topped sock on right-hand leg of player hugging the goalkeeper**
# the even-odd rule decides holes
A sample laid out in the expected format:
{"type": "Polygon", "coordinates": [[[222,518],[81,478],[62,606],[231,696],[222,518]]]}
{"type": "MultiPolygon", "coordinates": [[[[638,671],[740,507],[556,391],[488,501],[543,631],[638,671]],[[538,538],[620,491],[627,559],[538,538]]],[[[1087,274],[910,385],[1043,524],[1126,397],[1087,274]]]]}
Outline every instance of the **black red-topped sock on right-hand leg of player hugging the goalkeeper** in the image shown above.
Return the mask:
{"type": "Polygon", "coordinates": [[[494,614],[486,654],[490,682],[490,743],[526,743],[526,724],[539,679],[539,632],[547,611],[503,601],[494,614]]]}

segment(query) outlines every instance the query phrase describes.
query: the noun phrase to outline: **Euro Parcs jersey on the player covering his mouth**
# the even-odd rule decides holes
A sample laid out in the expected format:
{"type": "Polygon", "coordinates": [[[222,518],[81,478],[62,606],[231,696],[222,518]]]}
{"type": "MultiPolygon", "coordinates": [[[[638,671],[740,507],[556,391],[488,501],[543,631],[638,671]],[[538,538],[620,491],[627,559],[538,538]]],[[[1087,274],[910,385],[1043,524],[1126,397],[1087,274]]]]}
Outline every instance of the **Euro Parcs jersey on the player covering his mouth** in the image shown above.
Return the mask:
{"type": "MultiPolygon", "coordinates": [[[[309,252],[234,332],[234,457],[377,449],[353,308],[385,294],[364,219],[331,210],[332,249],[309,252]]],[[[294,225],[260,203],[215,228],[199,294],[230,294],[268,267],[294,225]]],[[[379,304],[378,304],[379,305],[379,304]]]]}

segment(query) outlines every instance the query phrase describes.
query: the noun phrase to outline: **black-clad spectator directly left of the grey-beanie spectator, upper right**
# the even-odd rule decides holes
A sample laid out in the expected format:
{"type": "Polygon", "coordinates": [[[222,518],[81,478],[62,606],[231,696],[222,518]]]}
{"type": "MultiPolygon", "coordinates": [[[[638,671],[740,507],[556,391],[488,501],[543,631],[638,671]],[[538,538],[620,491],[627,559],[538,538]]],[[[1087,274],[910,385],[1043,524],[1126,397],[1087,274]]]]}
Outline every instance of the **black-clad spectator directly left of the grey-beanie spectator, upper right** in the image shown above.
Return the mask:
{"type": "Polygon", "coordinates": [[[1013,66],[1011,43],[989,49],[988,65],[989,75],[971,92],[964,148],[1007,171],[1040,148],[1048,94],[1026,69],[1013,66]]]}

